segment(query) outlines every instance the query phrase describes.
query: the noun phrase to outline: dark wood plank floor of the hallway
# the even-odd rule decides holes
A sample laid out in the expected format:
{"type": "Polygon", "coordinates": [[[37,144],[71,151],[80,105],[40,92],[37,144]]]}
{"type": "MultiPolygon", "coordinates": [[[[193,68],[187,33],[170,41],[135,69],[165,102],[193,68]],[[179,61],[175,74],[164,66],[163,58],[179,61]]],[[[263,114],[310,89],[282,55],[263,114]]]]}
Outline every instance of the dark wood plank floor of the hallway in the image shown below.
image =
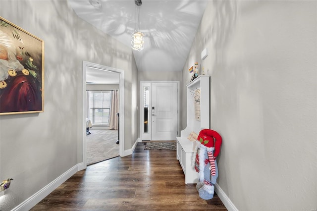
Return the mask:
{"type": "Polygon", "coordinates": [[[78,171],[31,211],[61,210],[209,210],[226,211],[217,195],[199,197],[185,184],[176,151],[144,150],[112,158],[78,171]]]}

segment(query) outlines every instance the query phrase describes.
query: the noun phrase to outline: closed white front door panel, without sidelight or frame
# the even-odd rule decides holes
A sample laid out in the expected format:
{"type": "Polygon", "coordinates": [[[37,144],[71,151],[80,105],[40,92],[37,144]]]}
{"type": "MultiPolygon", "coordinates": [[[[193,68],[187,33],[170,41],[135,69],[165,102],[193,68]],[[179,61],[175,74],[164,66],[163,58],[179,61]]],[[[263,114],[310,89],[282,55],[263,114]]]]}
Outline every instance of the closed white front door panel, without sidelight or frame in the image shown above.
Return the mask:
{"type": "Polygon", "coordinates": [[[177,83],[152,83],[152,141],[176,140],[178,136],[177,88],[177,83]]]}

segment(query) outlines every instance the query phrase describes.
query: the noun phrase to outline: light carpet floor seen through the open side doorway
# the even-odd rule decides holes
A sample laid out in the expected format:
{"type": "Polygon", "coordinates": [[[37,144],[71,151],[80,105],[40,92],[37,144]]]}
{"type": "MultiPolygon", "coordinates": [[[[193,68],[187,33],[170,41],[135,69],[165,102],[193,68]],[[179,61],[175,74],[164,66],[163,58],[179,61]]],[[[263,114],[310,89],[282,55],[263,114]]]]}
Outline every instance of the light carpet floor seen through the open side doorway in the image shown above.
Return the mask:
{"type": "Polygon", "coordinates": [[[87,165],[119,156],[117,130],[93,130],[86,136],[87,165]]]}

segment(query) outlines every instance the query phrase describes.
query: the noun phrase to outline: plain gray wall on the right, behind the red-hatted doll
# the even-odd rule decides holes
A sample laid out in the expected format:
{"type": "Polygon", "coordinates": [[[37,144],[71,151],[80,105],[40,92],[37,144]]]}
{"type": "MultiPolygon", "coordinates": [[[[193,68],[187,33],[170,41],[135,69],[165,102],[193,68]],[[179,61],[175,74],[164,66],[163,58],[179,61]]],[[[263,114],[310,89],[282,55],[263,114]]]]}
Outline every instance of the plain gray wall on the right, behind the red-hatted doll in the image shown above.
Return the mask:
{"type": "Polygon", "coordinates": [[[209,70],[217,183],[238,210],[317,208],[316,35],[317,1],[208,2],[183,90],[195,61],[209,70]]]}

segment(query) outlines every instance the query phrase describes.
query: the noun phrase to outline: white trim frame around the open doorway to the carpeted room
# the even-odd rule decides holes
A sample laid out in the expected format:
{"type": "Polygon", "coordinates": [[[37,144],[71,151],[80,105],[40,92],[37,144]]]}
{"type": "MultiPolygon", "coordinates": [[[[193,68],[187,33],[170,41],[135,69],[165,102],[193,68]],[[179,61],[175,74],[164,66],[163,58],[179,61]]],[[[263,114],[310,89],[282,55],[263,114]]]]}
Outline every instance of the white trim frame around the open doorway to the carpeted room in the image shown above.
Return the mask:
{"type": "Polygon", "coordinates": [[[93,67],[98,69],[103,69],[106,71],[111,71],[115,73],[119,73],[119,155],[120,157],[124,154],[124,71],[120,69],[115,69],[113,67],[107,67],[101,64],[91,63],[88,61],[83,61],[83,125],[82,125],[82,139],[83,139],[83,167],[84,169],[87,167],[87,145],[86,145],[86,68],[93,67]]]}

